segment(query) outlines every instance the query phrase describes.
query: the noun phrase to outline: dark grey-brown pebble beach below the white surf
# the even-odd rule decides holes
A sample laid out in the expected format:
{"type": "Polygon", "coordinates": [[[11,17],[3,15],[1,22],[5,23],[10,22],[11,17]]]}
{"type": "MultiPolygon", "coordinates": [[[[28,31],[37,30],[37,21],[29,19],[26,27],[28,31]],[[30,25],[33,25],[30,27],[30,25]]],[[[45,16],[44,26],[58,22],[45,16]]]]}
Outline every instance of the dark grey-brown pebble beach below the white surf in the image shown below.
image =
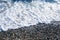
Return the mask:
{"type": "Polygon", "coordinates": [[[0,40],[60,40],[60,25],[39,23],[0,32],[0,40]]]}

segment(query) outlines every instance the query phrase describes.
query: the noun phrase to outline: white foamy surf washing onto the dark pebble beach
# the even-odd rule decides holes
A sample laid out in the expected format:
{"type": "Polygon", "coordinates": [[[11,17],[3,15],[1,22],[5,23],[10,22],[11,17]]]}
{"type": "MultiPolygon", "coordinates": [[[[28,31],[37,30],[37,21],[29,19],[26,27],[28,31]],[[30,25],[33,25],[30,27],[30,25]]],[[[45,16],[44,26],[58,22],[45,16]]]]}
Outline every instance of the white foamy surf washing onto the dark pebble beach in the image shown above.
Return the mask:
{"type": "Polygon", "coordinates": [[[27,3],[14,3],[6,11],[0,13],[0,29],[17,29],[24,26],[40,23],[60,21],[60,4],[33,1],[27,3]]]}

